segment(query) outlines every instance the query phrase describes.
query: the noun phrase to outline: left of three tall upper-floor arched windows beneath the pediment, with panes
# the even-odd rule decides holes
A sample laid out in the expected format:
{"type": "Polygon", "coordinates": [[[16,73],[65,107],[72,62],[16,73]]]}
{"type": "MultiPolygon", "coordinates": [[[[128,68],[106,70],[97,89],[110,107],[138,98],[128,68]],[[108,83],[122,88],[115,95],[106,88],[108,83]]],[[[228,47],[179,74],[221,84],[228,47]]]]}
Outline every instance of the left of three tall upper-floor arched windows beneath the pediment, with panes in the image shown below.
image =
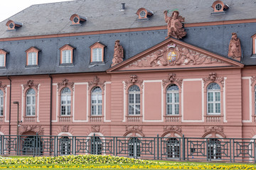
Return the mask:
{"type": "Polygon", "coordinates": [[[129,115],[140,114],[140,89],[139,86],[133,85],[129,87],[129,115]]]}

